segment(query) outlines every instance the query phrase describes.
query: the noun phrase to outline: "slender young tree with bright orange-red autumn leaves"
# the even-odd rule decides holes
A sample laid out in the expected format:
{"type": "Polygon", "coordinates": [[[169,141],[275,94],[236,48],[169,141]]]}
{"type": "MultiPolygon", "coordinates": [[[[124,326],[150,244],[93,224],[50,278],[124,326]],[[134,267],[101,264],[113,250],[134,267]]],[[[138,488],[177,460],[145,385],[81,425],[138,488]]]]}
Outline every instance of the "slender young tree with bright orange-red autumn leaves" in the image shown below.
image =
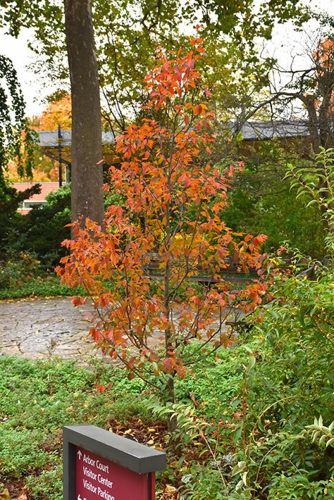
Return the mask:
{"type": "MultiPolygon", "coordinates": [[[[190,44],[185,56],[160,54],[145,79],[151,118],[116,140],[121,163],[111,167],[111,189],[123,206],[109,206],[103,227],[75,223],[75,239],[64,242],[70,255],[58,268],[63,282],[84,285],[92,297],[89,335],[97,346],[166,401],[175,399],[175,376],[185,377],[192,363],[232,344],[225,326],[230,308],[252,311],[266,293],[260,279],[244,289],[222,280],[230,258],[243,270],[259,269],[265,237],[234,233],[223,223],[226,194],[242,164],[222,171],[204,161],[214,117],[195,68],[202,40],[190,44]],[[196,280],[214,286],[196,287],[196,280]]],[[[175,421],[169,425],[173,430],[175,421]]]]}

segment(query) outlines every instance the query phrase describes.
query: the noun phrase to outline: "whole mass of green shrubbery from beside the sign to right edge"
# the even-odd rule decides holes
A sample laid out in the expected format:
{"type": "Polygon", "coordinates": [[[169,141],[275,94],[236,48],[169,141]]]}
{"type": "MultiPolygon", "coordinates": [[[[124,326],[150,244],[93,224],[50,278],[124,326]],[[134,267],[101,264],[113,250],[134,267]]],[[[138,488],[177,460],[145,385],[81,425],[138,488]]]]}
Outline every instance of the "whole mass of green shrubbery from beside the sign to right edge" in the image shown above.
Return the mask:
{"type": "Polygon", "coordinates": [[[175,387],[178,404],[149,402],[158,418],[178,420],[175,470],[186,498],[333,496],[333,426],[309,425],[333,416],[333,283],[278,281],[276,304],[244,335],[250,343],[241,337],[194,367],[175,387]]]}

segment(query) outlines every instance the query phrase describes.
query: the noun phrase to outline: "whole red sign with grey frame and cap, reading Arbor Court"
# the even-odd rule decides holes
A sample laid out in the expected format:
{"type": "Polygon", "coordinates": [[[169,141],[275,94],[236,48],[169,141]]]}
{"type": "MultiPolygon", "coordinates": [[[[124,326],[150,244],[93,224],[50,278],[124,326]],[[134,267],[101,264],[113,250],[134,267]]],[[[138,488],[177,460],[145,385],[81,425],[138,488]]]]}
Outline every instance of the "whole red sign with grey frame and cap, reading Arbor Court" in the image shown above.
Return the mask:
{"type": "Polygon", "coordinates": [[[154,500],[166,454],[94,425],[63,427],[63,500],[154,500]]]}

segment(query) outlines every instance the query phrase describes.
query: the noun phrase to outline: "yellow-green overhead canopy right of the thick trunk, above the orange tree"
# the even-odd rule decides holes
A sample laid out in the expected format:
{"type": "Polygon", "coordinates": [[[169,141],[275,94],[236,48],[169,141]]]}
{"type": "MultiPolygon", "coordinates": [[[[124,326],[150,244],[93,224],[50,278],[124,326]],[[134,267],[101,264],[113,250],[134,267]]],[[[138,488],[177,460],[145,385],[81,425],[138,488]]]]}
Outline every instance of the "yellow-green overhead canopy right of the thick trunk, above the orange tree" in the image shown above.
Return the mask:
{"type": "Polygon", "coordinates": [[[183,25],[202,25],[206,40],[205,74],[215,88],[219,115],[231,118],[249,106],[254,95],[266,83],[268,61],[260,61],[254,37],[271,37],[273,19],[284,22],[291,16],[302,22],[304,8],[294,1],[261,2],[258,13],[253,0],[230,1],[108,0],[93,1],[94,30],[97,35],[97,57],[100,81],[107,106],[104,118],[109,127],[124,130],[133,114],[144,112],[142,80],[147,68],[154,65],[157,46],[178,50],[187,44],[183,25]],[[133,50],[136,46],[136,50],[133,50]],[[228,111],[227,111],[228,110],[228,111]]]}

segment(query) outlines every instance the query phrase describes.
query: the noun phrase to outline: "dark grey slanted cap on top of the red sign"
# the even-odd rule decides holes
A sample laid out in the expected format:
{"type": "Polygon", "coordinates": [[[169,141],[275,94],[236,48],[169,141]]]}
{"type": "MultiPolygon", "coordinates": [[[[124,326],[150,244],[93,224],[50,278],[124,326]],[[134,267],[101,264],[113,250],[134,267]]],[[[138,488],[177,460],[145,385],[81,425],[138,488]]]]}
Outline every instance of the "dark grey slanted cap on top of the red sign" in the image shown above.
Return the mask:
{"type": "Polygon", "coordinates": [[[166,454],[95,425],[63,427],[63,441],[118,463],[138,474],[166,468],[166,454]]]}

